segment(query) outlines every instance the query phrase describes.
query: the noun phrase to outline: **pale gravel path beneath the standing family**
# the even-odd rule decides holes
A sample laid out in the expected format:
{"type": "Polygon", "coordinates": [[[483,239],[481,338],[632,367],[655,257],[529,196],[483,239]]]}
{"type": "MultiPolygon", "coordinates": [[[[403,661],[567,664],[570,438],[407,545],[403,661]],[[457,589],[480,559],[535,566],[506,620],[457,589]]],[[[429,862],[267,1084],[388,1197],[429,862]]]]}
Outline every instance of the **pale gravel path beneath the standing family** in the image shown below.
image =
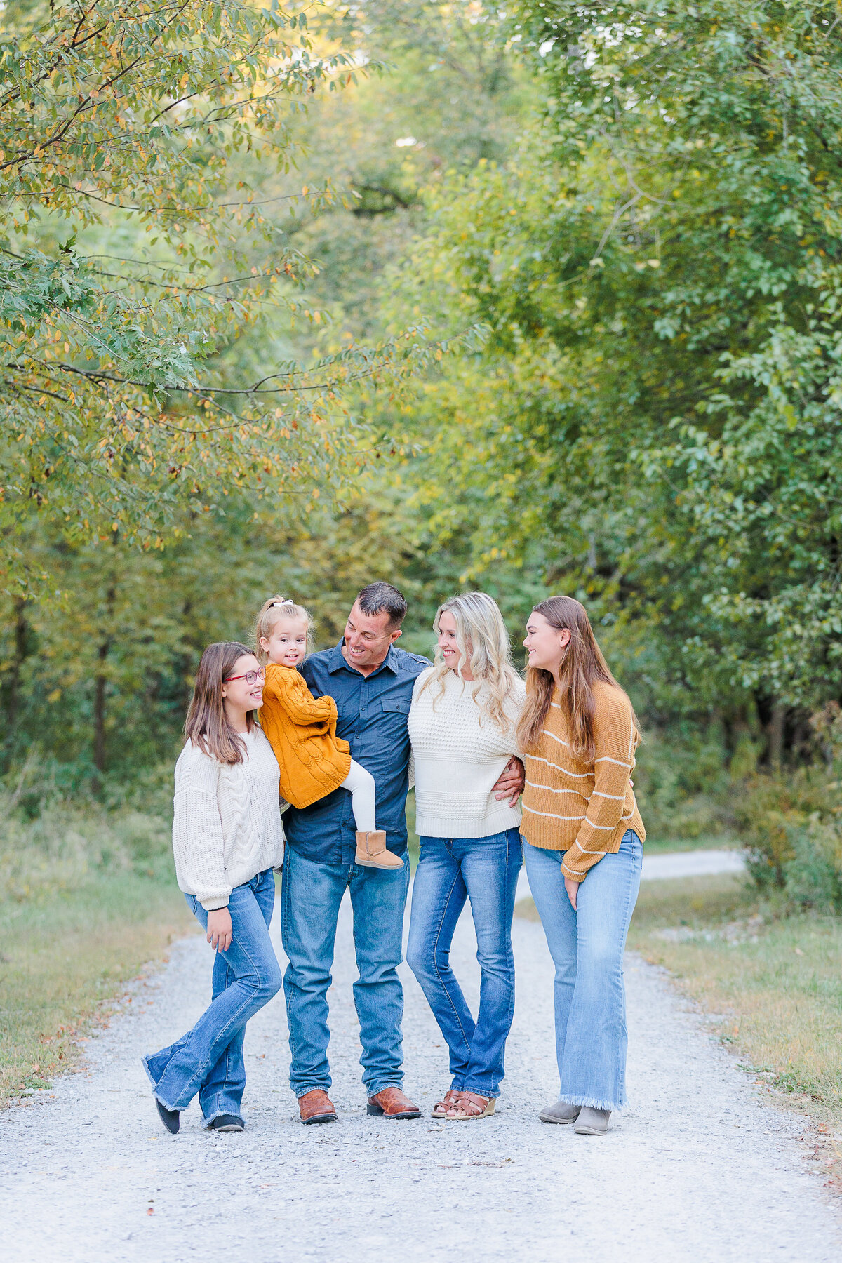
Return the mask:
{"type": "MultiPolygon", "coordinates": [[[[280,952],[279,935],[276,935],[280,952]]],[[[476,997],[467,918],[453,956],[476,997]]],[[[685,1012],[659,971],[627,961],[632,1106],[603,1139],[537,1120],[554,1096],[550,964],[540,926],[515,921],[518,1008],[499,1114],[478,1123],[365,1115],[342,909],[331,993],[341,1122],[303,1128],[287,1085],[284,1005],[249,1027],[247,1130],[213,1135],[193,1106],[158,1123],[141,1052],[179,1034],[210,989],[192,936],[91,1041],[87,1070],[0,1116],[4,1263],[246,1263],[438,1259],[836,1263],[842,1235],[810,1175],[799,1120],[685,1012]]],[[[429,1114],[446,1050],[408,970],[406,1087],[429,1114]]]]}

